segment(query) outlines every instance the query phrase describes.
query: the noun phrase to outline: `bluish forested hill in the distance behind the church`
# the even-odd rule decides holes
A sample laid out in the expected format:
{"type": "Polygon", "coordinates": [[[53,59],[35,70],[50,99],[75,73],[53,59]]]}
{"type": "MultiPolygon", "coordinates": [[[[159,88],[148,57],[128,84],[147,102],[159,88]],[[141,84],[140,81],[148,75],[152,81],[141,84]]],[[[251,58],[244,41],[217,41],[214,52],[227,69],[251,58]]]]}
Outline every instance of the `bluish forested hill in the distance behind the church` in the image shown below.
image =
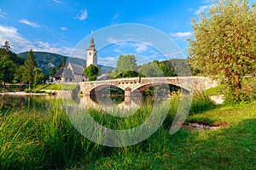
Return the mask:
{"type": "MultiPolygon", "coordinates": [[[[26,59],[28,52],[20,53],[18,54],[18,57],[22,59],[26,59]]],[[[48,52],[33,52],[34,57],[37,61],[38,67],[42,69],[44,74],[49,75],[49,71],[58,65],[58,63],[61,64],[61,60],[63,58],[63,55],[61,54],[53,54],[48,52]]],[[[67,63],[71,62],[73,64],[77,65],[85,65],[84,59],[78,59],[73,57],[67,57],[65,56],[67,63]]],[[[102,67],[102,65],[99,65],[102,67]]],[[[102,67],[102,73],[105,73],[107,71],[112,71],[113,67],[110,66],[104,66],[102,67]]]]}

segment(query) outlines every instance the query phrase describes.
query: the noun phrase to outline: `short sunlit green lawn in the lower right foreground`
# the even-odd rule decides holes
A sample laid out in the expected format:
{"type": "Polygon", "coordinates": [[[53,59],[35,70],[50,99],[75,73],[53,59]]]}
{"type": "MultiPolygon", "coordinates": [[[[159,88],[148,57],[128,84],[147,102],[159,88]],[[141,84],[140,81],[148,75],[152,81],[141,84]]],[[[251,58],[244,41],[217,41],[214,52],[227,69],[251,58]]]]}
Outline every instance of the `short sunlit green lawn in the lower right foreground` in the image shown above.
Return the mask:
{"type": "Polygon", "coordinates": [[[160,128],[147,140],[145,150],[102,156],[89,169],[254,169],[255,104],[224,106],[189,116],[190,121],[201,117],[229,126],[215,131],[179,130],[173,135],[160,128]]]}

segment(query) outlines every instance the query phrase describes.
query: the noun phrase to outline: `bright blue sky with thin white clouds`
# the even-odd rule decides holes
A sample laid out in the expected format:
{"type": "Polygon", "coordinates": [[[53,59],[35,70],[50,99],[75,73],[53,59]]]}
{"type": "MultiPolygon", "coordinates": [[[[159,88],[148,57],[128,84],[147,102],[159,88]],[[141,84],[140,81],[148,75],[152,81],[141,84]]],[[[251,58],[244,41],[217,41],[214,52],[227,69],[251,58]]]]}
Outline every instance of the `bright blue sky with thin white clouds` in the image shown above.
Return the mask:
{"type": "Polygon", "coordinates": [[[93,31],[98,64],[101,65],[114,65],[109,61],[115,61],[119,54],[135,54],[139,64],[170,56],[183,58],[189,47],[185,39],[193,38],[191,17],[199,18],[199,14],[211,5],[211,0],[1,1],[0,43],[3,45],[8,41],[12,51],[17,54],[32,48],[33,51],[85,59],[85,50],[93,31]],[[123,25],[125,23],[130,23],[131,27],[144,26],[148,30],[145,32],[149,32],[148,41],[139,38],[121,41],[121,37],[139,37],[144,32],[142,27],[137,34],[131,34],[130,25],[123,25]],[[114,29],[114,26],[118,29],[114,29]],[[152,30],[158,32],[153,35],[150,33],[152,30]],[[123,36],[120,32],[124,33],[123,36]],[[112,37],[108,37],[108,34],[112,37]],[[114,37],[115,34],[119,36],[114,37]],[[178,54],[175,50],[163,52],[155,48],[155,41],[162,41],[157,40],[158,36],[172,40],[177,46],[175,49],[180,49],[179,55],[175,55],[178,54]],[[74,53],[78,47],[79,53],[74,53]]]}

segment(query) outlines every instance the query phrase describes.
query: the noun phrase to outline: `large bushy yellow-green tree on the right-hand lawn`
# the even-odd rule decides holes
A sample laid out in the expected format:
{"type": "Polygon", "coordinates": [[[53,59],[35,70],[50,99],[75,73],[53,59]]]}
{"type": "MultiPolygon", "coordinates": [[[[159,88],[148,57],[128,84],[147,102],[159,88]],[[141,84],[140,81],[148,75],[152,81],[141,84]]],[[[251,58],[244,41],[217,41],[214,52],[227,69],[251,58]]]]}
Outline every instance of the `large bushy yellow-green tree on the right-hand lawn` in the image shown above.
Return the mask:
{"type": "Polygon", "coordinates": [[[194,69],[217,76],[229,88],[226,96],[240,102],[242,79],[256,71],[256,14],[247,0],[219,0],[200,20],[192,19],[189,63],[194,69]]]}

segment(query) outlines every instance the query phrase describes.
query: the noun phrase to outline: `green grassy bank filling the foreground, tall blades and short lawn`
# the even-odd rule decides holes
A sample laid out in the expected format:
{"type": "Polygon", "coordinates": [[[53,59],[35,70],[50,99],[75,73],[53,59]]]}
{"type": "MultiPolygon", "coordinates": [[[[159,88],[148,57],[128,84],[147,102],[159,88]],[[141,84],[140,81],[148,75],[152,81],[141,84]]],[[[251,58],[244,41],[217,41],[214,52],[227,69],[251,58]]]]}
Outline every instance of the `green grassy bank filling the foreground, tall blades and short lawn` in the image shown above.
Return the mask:
{"type": "MultiPolygon", "coordinates": [[[[256,102],[216,107],[206,96],[195,98],[188,121],[226,126],[214,131],[179,130],[170,135],[177,100],[150,138],[128,147],[112,148],[85,139],[57,105],[49,115],[16,111],[0,120],[0,169],[253,169],[256,166],[256,102]],[[208,110],[208,111],[207,111],[208,110]]],[[[149,111],[149,112],[148,112],[149,111]]],[[[150,114],[137,111],[137,121],[150,114]]],[[[98,122],[113,117],[90,110],[98,122]]],[[[120,123],[121,124],[121,123],[120,123]]],[[[118,127],[119,123],[117,123],[118,127]]],[[[122,126],[123,123],[122,123],[122,126]]],[[[121,127],[122,128],[122,127],[121,127]]]]}

